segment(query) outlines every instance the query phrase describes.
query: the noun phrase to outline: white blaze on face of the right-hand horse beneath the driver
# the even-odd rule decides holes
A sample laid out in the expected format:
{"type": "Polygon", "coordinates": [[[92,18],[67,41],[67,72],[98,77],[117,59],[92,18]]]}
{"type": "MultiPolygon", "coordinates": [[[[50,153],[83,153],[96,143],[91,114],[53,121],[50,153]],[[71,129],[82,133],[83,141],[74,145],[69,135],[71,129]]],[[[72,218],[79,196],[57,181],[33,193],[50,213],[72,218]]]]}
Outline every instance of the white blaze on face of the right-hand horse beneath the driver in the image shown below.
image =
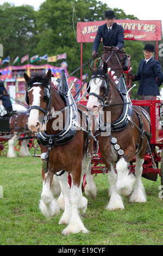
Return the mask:
{"type": "MultiPolygon", "coordinates": [[[[97,95],[99,95],[101,84],[102,84],[102,80],[99,78],[92,80],[90,82],[90,93],[96,93],[97,95]]],[[[100,105],[100,102],[98,101],[98,97],[90,95],[86,107],[90,110],[93,110],[93,106],[96,106],[98,108],[99,105],[100,105]]]]}

